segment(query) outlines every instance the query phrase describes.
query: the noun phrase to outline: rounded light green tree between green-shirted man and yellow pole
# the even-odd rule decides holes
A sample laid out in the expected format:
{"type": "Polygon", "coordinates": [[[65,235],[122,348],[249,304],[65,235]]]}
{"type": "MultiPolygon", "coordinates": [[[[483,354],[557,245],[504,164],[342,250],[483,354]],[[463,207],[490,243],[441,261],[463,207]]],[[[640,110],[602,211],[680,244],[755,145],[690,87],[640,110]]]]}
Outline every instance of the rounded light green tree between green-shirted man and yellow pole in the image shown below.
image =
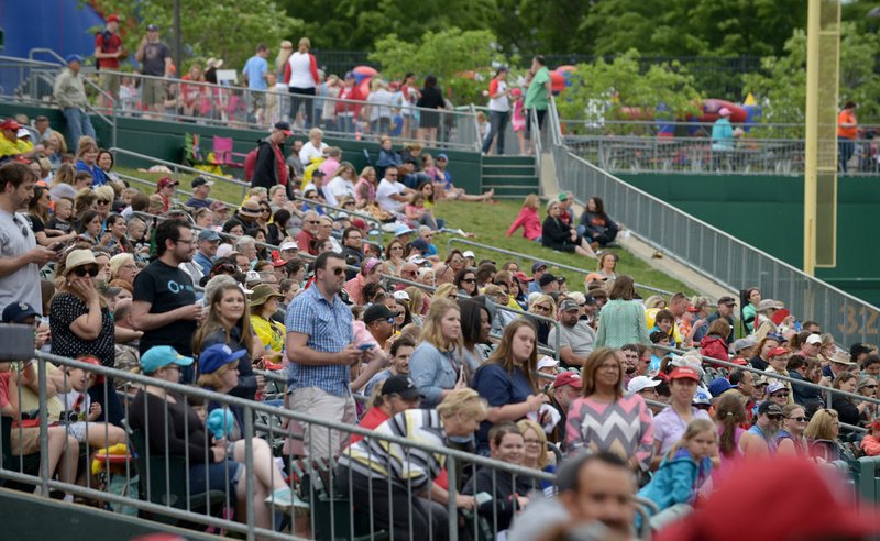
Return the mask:
{"type": "Polygon", "coordinates": [[[623,120],[631,118],[631,108],[654,113],[661,104],[673,118],[698,111],[700,92],[681,65],[653,65],[641,73],[639,56],[630,49],[610,63],[579,64],[574,82],[557,100],[560,118],[623,120]]]}

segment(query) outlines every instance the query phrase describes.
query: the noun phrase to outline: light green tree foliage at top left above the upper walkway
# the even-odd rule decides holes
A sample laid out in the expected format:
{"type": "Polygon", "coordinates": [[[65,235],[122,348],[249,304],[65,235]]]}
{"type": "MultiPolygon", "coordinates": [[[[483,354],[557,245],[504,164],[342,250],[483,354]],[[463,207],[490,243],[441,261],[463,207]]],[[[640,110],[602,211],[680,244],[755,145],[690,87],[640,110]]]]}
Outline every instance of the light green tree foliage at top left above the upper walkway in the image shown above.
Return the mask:
{"type": "MultiPolygon", "coordinates": [[[[184,51],[190,53],[184,55],[184,66],[177,66],[180,74],[190,60],[210,56],[223,58],[230,69],[241,69],[257,43],[272,47],[274,55],[278,43],[298,35],[304,25],[266,0],[186,0],[180,4],[184,51]]],[[[131,53],[138,51],[150,23],[157,24],[162,41],[174,47],[173,0],[102,0],[101,7],[122,19],[122,42],[131,53]]]]}

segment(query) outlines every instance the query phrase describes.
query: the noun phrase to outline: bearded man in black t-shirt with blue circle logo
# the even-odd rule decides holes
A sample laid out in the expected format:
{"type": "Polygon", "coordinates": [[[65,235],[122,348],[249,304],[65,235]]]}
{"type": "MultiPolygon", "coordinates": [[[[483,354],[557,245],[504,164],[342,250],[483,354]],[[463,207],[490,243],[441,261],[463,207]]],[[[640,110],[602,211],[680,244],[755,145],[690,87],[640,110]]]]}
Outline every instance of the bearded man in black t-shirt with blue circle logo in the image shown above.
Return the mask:
{"type": "MultiPolygon", "coordinates": [[[[154,345],[170,345],[185,356],[193,355],[193,335],[201,321],[193,279],[178,265],[193,261],[195,236],[188,224],[165,220],[156,229],[158,258],[134,278],[131,319],[143,331],[139,346],[143,353],[154,345]]],[[[190,383],[193,369],[182,372],[190,383]]]]}

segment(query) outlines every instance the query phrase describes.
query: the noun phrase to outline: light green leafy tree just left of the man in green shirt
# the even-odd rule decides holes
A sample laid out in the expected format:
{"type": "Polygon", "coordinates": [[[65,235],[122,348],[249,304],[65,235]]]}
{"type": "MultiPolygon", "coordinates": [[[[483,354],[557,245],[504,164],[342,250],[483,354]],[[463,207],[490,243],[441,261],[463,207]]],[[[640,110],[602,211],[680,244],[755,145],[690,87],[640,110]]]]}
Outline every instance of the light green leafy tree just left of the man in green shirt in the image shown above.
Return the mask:
{"type": "Polygon", "coordinates": [[[407,71],[435,75],[450,90],[454,102],[481,102],[484,100],[480,92],[493,75],[492,63],[504,60],[495,42],[492,32],[457,27],[428,32],[417,43],[389,34],[376,42],[369,58],[382,65],[382,75],[389,80],[399,79],[407,71]]]}

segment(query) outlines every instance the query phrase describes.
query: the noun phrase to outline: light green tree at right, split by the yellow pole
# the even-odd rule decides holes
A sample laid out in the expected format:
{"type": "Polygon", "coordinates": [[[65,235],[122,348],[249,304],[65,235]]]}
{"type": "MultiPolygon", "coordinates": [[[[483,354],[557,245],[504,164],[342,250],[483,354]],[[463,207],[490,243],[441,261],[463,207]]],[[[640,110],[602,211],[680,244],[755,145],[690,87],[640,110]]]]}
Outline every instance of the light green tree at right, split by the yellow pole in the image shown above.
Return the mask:
{"type": "MultiPolygon", "coordinates": [[[[840,27],[839,101],[859,104],[860,122],[880,119],[880,77],[875,71],[880,36],[859,33],[853,23],[840,27]]],[[[746,90],[763,106],[763,121],[804,122],[806,104],[806,33],[796,30],[785,43],[785,56],[763,59],[763,73],[746,76],[746,90]]]]}

